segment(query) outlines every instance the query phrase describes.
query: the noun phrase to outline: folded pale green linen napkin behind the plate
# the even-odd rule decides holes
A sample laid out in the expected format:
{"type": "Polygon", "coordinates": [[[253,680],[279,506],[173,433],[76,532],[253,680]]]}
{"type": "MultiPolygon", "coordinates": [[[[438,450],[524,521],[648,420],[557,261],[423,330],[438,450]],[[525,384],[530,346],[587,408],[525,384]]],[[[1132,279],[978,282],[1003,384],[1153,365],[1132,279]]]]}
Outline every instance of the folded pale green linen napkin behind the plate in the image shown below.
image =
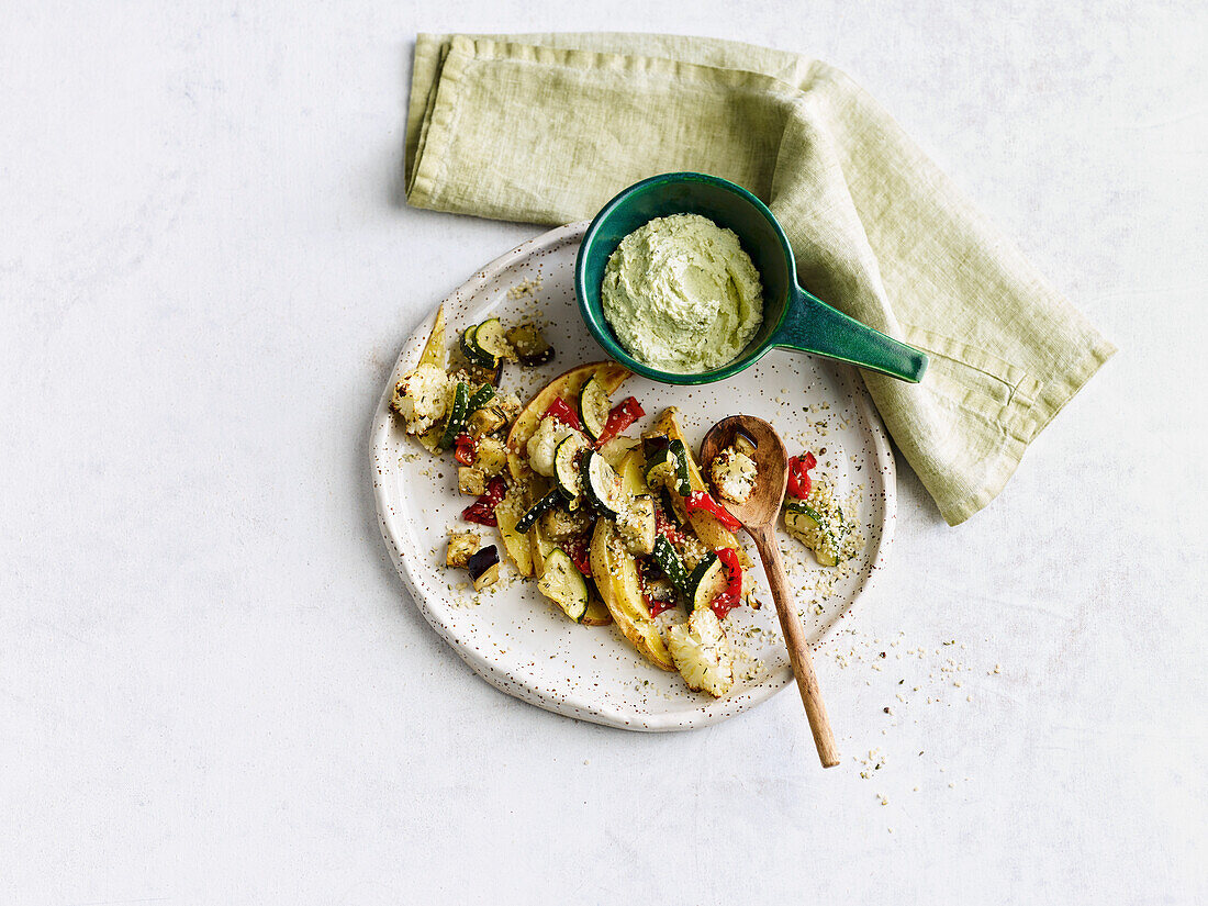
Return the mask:
{"type": "Polygon", "coordinates": [[[807,57],[670,35],[420,35],[405,165],[412,205],[536,223],[591,217],[670,170],[745,186],[806,289],[929,353],[922,384],[861,373],[953,525],[1115,352],[872,98],[807,57]]]}

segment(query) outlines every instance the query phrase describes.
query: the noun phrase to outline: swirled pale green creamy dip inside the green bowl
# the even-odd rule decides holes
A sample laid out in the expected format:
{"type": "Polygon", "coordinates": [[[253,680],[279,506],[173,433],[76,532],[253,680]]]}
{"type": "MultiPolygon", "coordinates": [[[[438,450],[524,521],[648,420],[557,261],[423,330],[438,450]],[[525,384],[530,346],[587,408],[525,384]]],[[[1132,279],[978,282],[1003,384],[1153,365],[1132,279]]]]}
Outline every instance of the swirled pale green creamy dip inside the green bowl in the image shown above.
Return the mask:
{"type": "Polygon", "coordinates": [[[600,301],[629,355],[676,373],[733,361],[763,323],[750,256],[732,230],[699,214],[656,217],[625,237],[600,301]]]}

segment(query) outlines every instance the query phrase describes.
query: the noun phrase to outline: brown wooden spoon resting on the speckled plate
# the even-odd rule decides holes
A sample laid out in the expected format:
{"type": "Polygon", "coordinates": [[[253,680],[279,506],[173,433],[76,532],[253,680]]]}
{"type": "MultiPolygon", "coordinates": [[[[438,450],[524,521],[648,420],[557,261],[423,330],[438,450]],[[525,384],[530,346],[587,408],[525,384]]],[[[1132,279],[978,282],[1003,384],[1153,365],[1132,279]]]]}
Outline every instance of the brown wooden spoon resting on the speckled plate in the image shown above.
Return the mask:
{"type": "Polygon", "coordinates": [[[745,504],[726,500],[725,507],[743,523],[747,534],[755,541],[760,559],[763,561],[763,573],[767,574],[768,585],[772,586],[772,599],[780,616],[780,629],[789,646],[789,660],[797,678],[801,701],[806,705],[806,716],[809,718],[818,757],[821,759],[823,767],[835,767],[838,763],[838,749],[835,748],[835,737],[831,733],[830,719],[826,716],[826,705],[823,704],[821,691],[818,689],[818,676],[814,674],[806,632],[797,616],[797,608],[784,575],[780,546],[776,540],[776,519],[780,515],[784,488],[789,481],[789,453],[776,429],[763,419],[754,416],[731,416],[718,422],[704,436],[701,442],[701,465],[708,474],[713,458],[731,446],[738,434],[755,445],[755,452],[750,457],[759,469],[759,477],[755,480],[755,490],[745,504]]]}

